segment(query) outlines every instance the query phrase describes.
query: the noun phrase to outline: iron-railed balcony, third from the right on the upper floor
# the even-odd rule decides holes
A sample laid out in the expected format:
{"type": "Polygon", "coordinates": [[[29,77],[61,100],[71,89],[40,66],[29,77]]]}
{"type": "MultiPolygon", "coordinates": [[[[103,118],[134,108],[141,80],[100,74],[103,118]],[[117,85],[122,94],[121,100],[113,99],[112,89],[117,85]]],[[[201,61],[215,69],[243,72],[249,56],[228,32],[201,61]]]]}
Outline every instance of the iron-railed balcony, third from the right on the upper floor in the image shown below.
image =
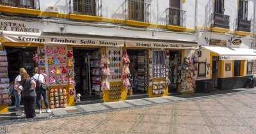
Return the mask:
{"type": "Polygon", "coordinates": [[[173,8],[166,9],[166,24],[173,26],[186,27],[187,12],[173,8]]]}

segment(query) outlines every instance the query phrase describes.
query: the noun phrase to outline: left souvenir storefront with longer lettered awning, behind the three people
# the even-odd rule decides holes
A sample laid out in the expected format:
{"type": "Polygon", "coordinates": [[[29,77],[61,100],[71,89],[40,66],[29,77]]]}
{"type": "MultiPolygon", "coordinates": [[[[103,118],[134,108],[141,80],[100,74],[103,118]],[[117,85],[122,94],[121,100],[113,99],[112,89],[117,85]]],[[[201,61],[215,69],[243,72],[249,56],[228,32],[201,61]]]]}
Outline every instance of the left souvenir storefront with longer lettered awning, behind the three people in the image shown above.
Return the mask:
{"type": "Polygon", "coordinates": [[[6,84],[1,83],[1,98],[6,101],[1,100],[5,107],[1,109],[8,106],[7,87],[20,67],[31,73],[38,66],[40,73],[46,75],[51,108],[74,105],[78,93],[81,100],[125,100],[123,46],[124,40],[3,33],[1,53],[5,65],[1,75],[6,77],[2,80],[6,84]]]}

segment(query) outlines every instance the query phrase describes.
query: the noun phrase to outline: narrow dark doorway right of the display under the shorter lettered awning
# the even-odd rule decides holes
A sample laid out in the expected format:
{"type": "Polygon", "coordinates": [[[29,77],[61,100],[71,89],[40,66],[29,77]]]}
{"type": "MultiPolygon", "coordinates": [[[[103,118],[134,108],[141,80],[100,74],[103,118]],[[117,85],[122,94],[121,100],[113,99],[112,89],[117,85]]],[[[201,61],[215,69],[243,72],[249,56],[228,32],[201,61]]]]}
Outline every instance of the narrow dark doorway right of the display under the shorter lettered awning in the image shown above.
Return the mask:
{"type": "Polygon", "coordinates": [[[169,93],[177,93],[178,85],[181,83],[182,56],[180,50],[170,50],[169,63],[169,93]]]}

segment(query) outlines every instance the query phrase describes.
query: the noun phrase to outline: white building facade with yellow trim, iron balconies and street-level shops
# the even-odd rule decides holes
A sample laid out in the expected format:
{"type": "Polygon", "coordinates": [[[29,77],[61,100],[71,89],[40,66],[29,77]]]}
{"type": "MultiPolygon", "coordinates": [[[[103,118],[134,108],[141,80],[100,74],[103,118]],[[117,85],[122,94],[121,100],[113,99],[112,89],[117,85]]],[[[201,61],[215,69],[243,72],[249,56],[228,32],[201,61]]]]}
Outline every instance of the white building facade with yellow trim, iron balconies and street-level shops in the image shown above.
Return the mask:
{"type": "MultiPolygon", "coordinates": [[[[215,74],[216,70],[222,68],[218,75],[214,75],[217,81],[234,77],[231,71],[234,71],[236,57],[239,61],[243,59],[240,63],[236,61],[243,68],[243,71],[239,70],[239,76],[246,77],[246,58],[254,59],[253,52],[250,56],[236,55],[234,52],[232,54],[236,56],[223,61],[219,59],[228,56],[214,51],[216,45],[248,50],[252,47],[256,30],[253,25],[255,1],[250,0],[2,0],[0,13],[0,42],[8,60],[12,59],[12,52],[15,50],[26,52],[36,48],[33,50],[40,54],[41,50],[47,51],[47,48],[54,49],[61,45],[67,52],[74,52],[72,58],[67,57],[67,64],[63,64],[76,75],[67,76],[68,80],[63,77],[59,83],[55,81],[58,81],[59,75],[62,78],[65,71],[58,76],[51,74],[51,54],[46,54],[42,59],[39,56],[38,59],[39,63],[42,61],[42,72],[49,75],[47,82],[50,87],[60,86],[60,89],[66,89],[70,93],[66,100],[60,100],[62,103],[58,103],[58,106],[63,103],[74,105],[72,96],[76,93],[86,94],[84,98],[97,95],[104,101],[125,100],[127,95],[135,92],[146,93],[149,97],[166,96],[175,92],[194,93],[200,80],[212,80],[212,70],[215,74]],[[231,45],[234,39],[241,43],[231,45]],[[214,48],[211,48],[212,45],[214,48]],[[96,86],[99,80],[92,82],[95,79],[84,72],[92,70],[79,65],[76,56],[85,53],[90,55],[90,51],[96,54],[99,51],[100,57],[111,57],[112,50],[113,53],[127,53],[130,60],[131,57],[134,58],[135,61],[130,64],[134,68],[130,68],[131,72],[128,74],[131,86],[125,86],[127,74],[123,73],[124,68],[117,67],[116,64],[119,63],[115,63],[121,64],[121,60],[114,60],[115,69],[111,62],[109,65],[110,70],[115,72],[110,76],[110,89],[104,91],[102,85],[96,86]],[[140,61],[140,56],[144,56],[142,65],[137,62],[140,61]],[[68,66],[68,58],[73,60],[72,66],[68,66]],[[230,66],[228,73],[223,71],[226,63],[227,69],[230,66]],[[145,68],[140,68],[140,65],[145,68]],[[218,68],[213,69],[212,66],[218,68]],[[141,70],[146,73],[141,75],[141,70]],[[85,77],[90,77],[90,80],[85,77]],[[117,95],[111,96],[111,86],[116,87],[117,95]]],[[[123,56],[119,55],[120,58],[123,56]]],[[[81,58],[88,60],[88,57],[81,58]]],[[[12,80],[17,75],[17,72],[12,73],[17,70],[12,64],[17,63],[8,62],[6,73],[12,80]]],[[[19,67],[26,67],[25,61],[21,63],[19,67]]],[[[35,66],[35,63],[28,66],[32,64],[35,66]]],[[[125,63],[122,64],[124,65],[125,63]]],[[[26,69],[31,70],[29,67],[26,69]]],[[[215,83],[212,85],[222,88],[215,83]]],[[[52,101],[52,107],[57,107],[56,100],[52,101]]]]}

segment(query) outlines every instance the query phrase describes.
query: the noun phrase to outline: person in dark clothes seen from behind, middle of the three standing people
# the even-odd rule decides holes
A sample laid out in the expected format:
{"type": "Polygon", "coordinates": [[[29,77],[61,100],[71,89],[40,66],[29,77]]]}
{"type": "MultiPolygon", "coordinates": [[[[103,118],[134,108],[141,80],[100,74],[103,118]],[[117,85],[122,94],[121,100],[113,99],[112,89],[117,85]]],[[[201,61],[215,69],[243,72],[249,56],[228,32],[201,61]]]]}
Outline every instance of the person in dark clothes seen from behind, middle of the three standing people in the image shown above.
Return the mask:
{"type": "Polygon", "coordinates": [[[21,74],[20,85],[22,86],[22,100],[24,101],[24,110],[26,118],[35,118],[35,106],[36,106],[36,82],[32,80],[28,73],[21,74]]]}

